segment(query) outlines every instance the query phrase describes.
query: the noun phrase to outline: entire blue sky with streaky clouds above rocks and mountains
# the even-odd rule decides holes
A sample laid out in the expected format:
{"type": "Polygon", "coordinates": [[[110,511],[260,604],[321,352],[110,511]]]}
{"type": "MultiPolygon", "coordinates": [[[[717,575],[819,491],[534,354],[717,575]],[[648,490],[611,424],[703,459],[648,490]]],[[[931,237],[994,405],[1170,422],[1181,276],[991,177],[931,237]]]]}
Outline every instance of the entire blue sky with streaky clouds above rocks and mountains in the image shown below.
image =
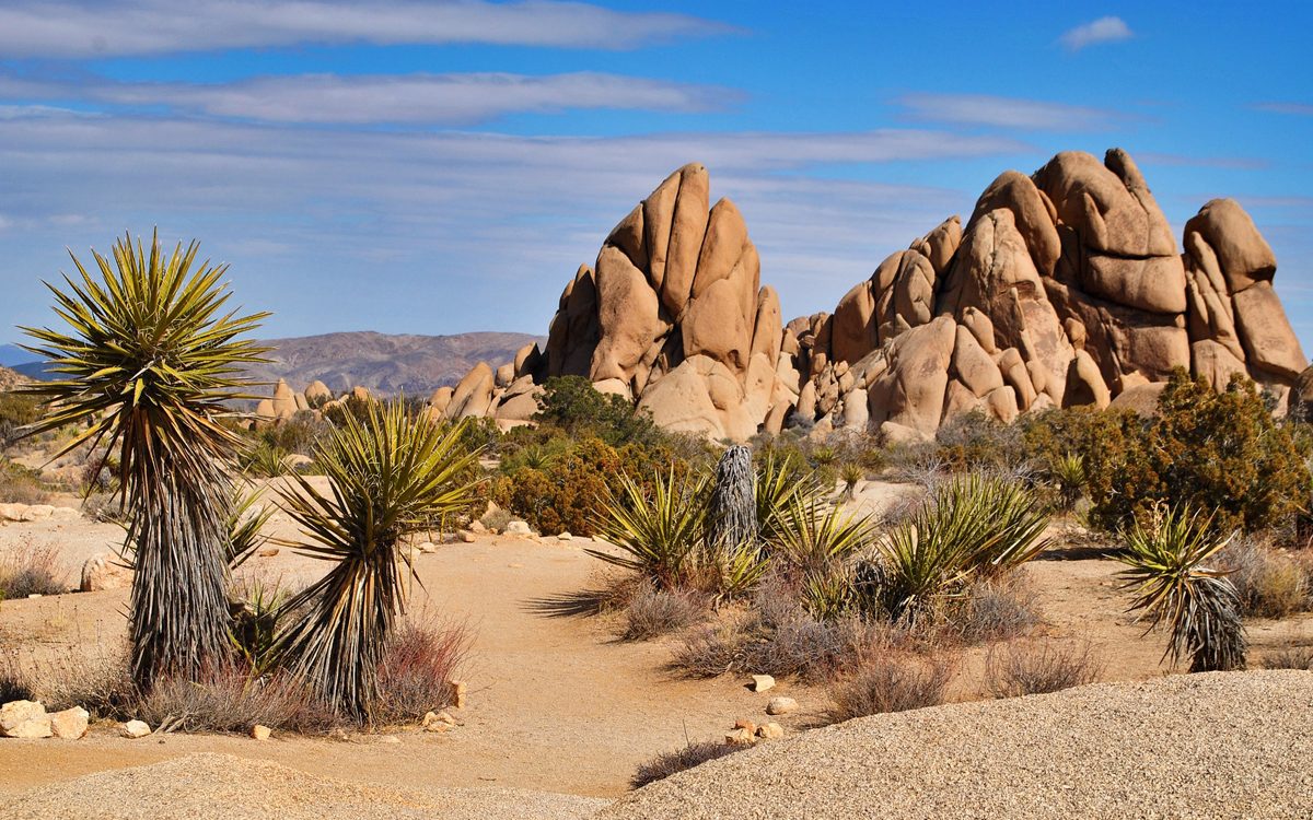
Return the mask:
{"type": "Polygon", "coordinates": [[[0,342],[125,231],[198,237],[268,336],[545,333],[702,161],[789,316],[1002,171],[1130,151],[1176,228],[1237,198],[1313,352],[1308,4],[0,5],[0,342]]]}

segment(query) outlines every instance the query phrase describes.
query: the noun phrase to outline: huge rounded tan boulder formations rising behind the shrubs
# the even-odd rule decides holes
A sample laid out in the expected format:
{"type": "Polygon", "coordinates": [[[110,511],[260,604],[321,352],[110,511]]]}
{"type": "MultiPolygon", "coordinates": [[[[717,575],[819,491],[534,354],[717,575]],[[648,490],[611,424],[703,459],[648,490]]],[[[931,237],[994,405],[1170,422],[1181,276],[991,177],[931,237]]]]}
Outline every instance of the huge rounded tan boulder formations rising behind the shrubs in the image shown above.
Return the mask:
{"type": "Polygon", "coordinates": [[[718,440],[785,425],[910,440],[972,411],[1152,404],[1175,367],[1217,388],[1246,375],[1284,405],[1308,363],[1243,209],[1208,202],[1178,249],[1119,148],[1003,173],[965,227],[944,220],[832,314],[786,324],[742,214],[709,192],[702,165],[667,177],[566,285],[546,349],[479,363],[431,412],[521,424],[570,374],[718,440]]]}

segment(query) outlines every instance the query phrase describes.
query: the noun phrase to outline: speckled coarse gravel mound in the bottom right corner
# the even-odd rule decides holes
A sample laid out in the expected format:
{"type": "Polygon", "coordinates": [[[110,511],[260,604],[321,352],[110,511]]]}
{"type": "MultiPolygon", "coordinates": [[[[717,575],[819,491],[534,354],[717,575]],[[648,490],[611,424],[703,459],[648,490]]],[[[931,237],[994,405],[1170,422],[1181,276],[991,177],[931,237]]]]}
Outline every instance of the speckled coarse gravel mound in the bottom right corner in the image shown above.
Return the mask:
{"type": "Polygon", "coordinates": [[[633,792],[599,817],[1310,817],[1313,674],[1104,684],[864,718],[633,792]]]}

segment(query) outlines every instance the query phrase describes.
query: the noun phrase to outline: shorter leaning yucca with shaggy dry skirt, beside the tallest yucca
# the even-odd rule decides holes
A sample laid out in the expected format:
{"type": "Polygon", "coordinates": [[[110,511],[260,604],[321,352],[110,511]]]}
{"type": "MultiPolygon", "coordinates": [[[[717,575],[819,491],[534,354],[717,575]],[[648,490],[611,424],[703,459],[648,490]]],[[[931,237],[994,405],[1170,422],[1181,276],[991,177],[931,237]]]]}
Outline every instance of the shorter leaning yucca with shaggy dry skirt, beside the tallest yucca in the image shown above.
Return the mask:
{"type": "Polygon", "coordinates": [[[470,502],[478,451],[463,425],[442,429],[410,419],[403,401],[348,413],[315,447],[331,489],[293,474],[288,514],[312,541],[301,552],[332,563],[293,596],[274,653],[344,716],[372,722],[378,665],[404,611],[404,576],[414,577],[406,537],[470,502]]]}

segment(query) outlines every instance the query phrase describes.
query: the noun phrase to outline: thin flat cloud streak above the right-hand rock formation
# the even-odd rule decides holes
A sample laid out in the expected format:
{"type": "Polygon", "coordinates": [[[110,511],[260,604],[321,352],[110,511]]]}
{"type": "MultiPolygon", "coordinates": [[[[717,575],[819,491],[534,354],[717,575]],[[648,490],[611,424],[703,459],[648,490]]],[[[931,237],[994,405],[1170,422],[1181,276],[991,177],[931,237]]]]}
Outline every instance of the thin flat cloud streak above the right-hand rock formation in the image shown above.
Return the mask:
{"type": "Polygon", "coordinates": [[[1102,131],[1124,115],[1107,109],[990,94],[905,94],[906,118],[1040,131],[1102,131]]]}

